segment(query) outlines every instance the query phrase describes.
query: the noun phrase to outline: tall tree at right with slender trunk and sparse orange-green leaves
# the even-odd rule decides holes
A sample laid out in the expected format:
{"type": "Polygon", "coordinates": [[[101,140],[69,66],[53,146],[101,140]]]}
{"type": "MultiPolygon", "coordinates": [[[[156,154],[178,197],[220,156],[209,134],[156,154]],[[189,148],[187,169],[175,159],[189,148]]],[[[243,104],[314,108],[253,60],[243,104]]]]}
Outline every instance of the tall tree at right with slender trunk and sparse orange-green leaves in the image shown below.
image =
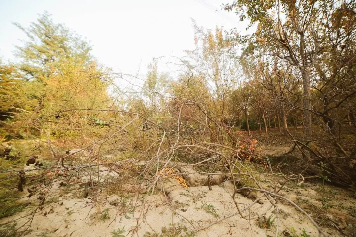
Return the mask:
{"type": "Polygon", "coordinates": [[[224,5],[225,10],[235,9],[241,20],[247,18],[250,25],[257,24],[256,34],[246,38],[246,49],[268,47],[275,58],[294,68],[298,73],[295,79],[302,79],[303,105],[298,105],[298,109],[303,111],[306,139],[312,136],[312,114],[322,117],[326,127],[335,133],[338,119],[330,116],[331,110],[355,94],[351,79],[355,7],[354,1],[342,0],[235,0],[224,5]],[[340,103],[330,105],[330,97],[333,100],[341,94],[329,92],[345,89],[344,86],[352,90],[342,96],[340,103]],[[323,111],[316,109],[315,102],[312,106],[311,88],[320,93],[323,111]]]}

